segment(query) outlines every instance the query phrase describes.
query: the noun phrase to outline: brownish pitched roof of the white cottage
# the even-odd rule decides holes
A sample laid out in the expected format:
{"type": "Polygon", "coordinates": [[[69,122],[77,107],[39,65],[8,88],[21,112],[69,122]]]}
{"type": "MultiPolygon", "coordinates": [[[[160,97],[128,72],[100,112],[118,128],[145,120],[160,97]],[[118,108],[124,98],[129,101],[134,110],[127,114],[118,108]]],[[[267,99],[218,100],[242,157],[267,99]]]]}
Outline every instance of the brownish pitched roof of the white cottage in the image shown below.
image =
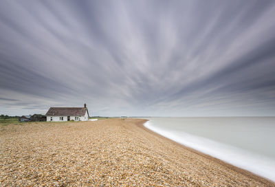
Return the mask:
{"type": "MultiPolygon", "coordinates": [[[[85,112],[88,112],[87,108],[84,107],[50,107],[49,111],[47,111],[46,115],[63,115],[63,116],[78,116],[85,115],[85,112]]],[[[88,112],[89,115],[89,112],[88,112]]]]}

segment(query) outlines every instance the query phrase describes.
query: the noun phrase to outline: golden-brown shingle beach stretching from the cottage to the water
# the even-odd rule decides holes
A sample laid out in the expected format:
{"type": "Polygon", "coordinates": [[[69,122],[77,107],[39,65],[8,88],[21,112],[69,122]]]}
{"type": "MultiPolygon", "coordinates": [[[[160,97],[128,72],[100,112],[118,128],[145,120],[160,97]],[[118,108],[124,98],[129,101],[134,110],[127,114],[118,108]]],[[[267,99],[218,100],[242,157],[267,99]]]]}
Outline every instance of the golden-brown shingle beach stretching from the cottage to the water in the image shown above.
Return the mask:
{"type": "Polygon", "coordinates": [[[1,126],[0,186],[275,186],[153,133],[145,121],[1,126]]]}

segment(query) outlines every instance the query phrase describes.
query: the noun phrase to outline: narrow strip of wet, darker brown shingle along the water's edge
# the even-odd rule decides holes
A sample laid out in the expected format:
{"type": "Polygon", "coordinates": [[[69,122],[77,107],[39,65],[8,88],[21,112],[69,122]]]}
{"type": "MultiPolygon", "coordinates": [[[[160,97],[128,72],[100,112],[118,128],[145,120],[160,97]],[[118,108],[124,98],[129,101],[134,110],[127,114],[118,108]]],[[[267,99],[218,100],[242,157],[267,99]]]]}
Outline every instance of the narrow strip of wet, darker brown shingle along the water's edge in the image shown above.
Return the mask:
{"type": "Polygon", "coordinates": [[[139,126],[141,129],[143,129],[144,131],[147,131],[148,133],[151,133],[153,135],[156,135],[157,137],[161,137],[162,139],[166,140],[166,141],[169,141],[169,142],[172,142],[173,144],[181,147],[181,148],[184,148],[188,151],[191,151],[192,153],[195,153],[199,156],[202,156],[202,157],[205,157],[206,159],[210,159],[212,160],[213,162],[216,162],[217,164],[221,164],[222,166],[225,166],[227,168],[229,168],[230,170],[234,170],[236,171],[237,173],[241,173],[242,175],[245,175],[247,177],[251,177],[257,181],[261,181],[263,184],[267,185],[267,186],[275,186],[275,182],[270,180],[270,179],[267,179],[265,177],[262,177],[262,176],[259,176],[259,175],[256,175],[255,173],[252,173],[250,172],[249,170],[245,170],[243,168],[239,168],[237,166],[234,166],[232,164],[229,164],[228,162],[225,162],[221,159],[218,159],[216,157],[212,157],[211,155],[208,155],[206,153],[202,153],[200,151],[197,151],[195,150],[194,148],[190,148],[188,146],[184,146],[183,144],[180,144],[179,142],[175,142],[174,140],[170,140],[168,137],[165,137],[163,135],[160,135],[159,133],[156,133],[155,131],[152,131],[151,129],[148,129],[144,126],[144,123],[147,122],[148,120],[144,120],[144,122],[140,123],[140,124],[136,124],[137,126],[139,126]]]}

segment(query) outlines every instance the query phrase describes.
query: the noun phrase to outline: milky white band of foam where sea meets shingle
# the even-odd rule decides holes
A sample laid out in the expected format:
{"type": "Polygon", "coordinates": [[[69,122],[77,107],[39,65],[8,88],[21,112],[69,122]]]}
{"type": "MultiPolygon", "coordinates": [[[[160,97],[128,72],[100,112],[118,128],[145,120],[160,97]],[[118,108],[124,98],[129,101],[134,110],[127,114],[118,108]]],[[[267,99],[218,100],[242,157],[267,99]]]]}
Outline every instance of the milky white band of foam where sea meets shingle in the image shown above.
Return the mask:
{"type": "Polygon", "coordinates": [[[144,126],[184,146],[194,148],[197,151],[201,151],[202,153],[221,159],[239,168],[249,170],[256,175],[275,181],[275,161],[270,157],[257,155],[256,153],[241,148],[215,142],[205,137],[191,135],[183,131],[164,130],[153,125],[150,121],[145,122],[144,126]]]}

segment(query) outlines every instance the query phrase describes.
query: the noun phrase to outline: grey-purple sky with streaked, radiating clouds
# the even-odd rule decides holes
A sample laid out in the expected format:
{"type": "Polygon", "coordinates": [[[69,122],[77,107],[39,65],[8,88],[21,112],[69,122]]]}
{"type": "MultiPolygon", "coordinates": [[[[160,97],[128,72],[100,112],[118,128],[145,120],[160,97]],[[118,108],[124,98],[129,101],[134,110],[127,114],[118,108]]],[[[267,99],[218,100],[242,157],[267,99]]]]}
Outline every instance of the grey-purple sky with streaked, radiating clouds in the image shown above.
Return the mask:
{"type": "Polygon", "coordinates": [[[275,1],[0,1],[0,113],[274,116],[275,1]]]}

